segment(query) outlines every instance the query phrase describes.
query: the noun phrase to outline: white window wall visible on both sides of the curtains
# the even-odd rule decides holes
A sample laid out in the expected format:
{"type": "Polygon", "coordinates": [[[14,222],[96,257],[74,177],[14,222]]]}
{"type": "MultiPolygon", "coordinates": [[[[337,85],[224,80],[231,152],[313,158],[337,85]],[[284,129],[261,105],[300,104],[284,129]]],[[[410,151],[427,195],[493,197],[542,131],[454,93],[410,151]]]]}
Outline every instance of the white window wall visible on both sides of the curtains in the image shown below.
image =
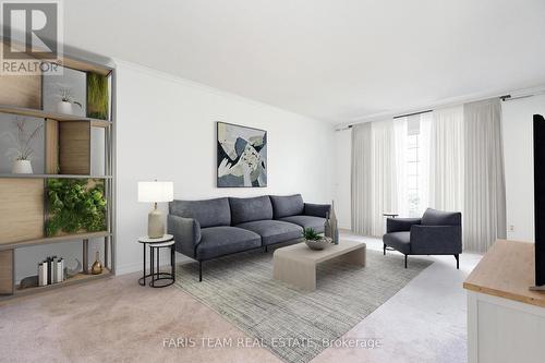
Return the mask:
{"type": "MultiPolygon", "coordinates": [[[[501,102],[507,198],[507,238],[534,241],[534,113],[545,116],[545,95],[501,102]],[[511,230],[512,228],[512,230],[511,230]]],[[[336,203],[341,226],[350,223],[350,131],[336,133],[336,203]],[[348,193],[348,194],[347,194],[348,193]],[[341,219],[342,218],[342,219],[341,219]]],[[[349,226],[349,225],[348,225],[349,226]]]]}

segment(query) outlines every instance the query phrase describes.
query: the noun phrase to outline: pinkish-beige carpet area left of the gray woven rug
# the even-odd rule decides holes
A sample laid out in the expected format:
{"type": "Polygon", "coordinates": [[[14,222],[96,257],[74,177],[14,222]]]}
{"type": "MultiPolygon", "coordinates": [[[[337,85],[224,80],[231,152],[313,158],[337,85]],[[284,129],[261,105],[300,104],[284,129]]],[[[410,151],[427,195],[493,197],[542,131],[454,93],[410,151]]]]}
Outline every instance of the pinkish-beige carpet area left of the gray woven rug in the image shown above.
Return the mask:
{"type": "Polygon", "coordinates": [[[245,335],[175,287],[138,286],[140,276],[0,303],[0,362],[279,362],[265,349],[165,347],[245,335]]]}

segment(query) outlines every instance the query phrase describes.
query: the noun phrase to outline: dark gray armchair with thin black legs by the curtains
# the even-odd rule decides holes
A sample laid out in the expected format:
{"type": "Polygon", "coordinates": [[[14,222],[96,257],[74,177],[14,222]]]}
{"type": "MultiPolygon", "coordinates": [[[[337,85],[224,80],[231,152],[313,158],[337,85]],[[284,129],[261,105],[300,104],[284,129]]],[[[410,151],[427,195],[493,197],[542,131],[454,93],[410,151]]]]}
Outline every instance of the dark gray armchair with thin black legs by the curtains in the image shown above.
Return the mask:
{"type": "Polygon", "coordinates": [[[384,254],[391,247],[405,255],[453,255],[460,268],[462,214],[427,208],[422,218],[388,218],[384,254]]]}

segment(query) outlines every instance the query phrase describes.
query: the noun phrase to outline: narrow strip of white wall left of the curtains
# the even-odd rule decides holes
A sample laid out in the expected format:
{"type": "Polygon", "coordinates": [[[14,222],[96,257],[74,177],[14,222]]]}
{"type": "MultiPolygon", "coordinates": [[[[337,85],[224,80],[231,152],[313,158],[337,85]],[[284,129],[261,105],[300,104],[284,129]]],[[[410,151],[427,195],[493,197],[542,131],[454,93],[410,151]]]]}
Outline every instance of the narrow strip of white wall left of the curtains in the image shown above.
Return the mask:
{"type": "Polygon", "coordinates": [[[350,193],[350,174],[351,174],[351,146],[352,132],[351,129],[340,130],[335,132],[335,180],[334,180],[334,199],[335,213],[339,220],[339,227],[351,229],[350,220],[351,193],[350,193]]]}

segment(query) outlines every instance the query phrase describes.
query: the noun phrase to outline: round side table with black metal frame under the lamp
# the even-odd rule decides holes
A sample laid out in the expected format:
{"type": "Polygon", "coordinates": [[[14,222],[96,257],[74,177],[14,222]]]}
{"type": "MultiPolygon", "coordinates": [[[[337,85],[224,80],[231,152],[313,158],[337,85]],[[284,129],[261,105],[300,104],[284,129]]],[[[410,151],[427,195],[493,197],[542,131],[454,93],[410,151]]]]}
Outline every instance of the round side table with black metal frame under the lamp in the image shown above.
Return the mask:
{"type": "Polygon", "coordinates": [[[144,246],[144,264],[143,276],[138,279],[141,286],[146,285],[146,279],[149,277],[149,286],[153,288],[165,288],[174,283],[175,280],[175,257],[174,257],[174,237],[172,234],[165,234],[158,239],[150,239],[147,235],[138,238],[138,243],[144,246]],[[149,246],[149,274],[146,275],[146,245],[149,246]],[[162,247],[170,247],[170,267],[171,271],[161,273],[159,263],[159,251],[162,247]],[[156,285],[159,280],[168,280],[169,283],[156,285]]]}

